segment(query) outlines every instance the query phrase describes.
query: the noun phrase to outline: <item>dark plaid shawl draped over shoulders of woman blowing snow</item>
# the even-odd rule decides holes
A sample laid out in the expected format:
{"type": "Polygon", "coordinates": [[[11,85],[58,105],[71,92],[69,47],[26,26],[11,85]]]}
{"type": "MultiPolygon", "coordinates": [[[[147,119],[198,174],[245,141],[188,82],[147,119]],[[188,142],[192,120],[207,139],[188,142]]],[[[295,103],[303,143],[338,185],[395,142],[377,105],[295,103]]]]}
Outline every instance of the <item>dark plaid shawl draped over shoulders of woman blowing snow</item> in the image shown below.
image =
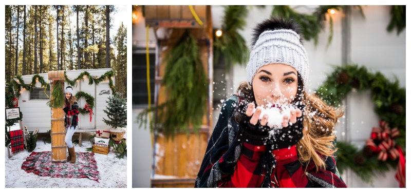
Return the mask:
{"type": "MultiPolygon", "coordinates": [[[[234,121],[234,110],[238,101],[239,97],[233,95],[221,107],[194,187],[219,187],[230,181],[242,149],[242,143],[236,138],[238,124],[234,121]]],[[[262,157],[264,158],[265,156],[262,157]]],[[[346,187],[341,177],[334,179],[335,173],[338,173],[335,160],[329,157],[325,162],[327,172],[308,171],[306,174],[312,187],[346,187]]],[[[313,162],[309,163],[308,170],[315,171],[313,162]]]]}

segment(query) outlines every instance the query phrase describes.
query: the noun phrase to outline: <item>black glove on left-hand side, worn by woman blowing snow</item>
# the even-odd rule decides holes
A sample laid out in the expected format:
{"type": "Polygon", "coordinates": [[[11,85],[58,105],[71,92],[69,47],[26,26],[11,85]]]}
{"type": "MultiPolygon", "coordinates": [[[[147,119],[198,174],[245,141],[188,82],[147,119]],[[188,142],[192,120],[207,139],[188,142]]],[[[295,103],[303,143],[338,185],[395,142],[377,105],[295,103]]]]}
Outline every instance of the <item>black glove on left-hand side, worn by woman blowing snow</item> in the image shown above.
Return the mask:
{"type": "Polygon", "coordinates": [[[237,111],[237,113],[240,113],[240,119],[238,122],[239,131],[237,133],[237,139],[252,145],[265,145],[269,136],[268,130],[270,129],[270,127],[266,125],[260,125],[259,121],[255,125],[250,124],[252,116],[248,117],[246,115],[247,107],[248,104],[240,105],[238,108],[240,109],[240,111],[237,111]]]}

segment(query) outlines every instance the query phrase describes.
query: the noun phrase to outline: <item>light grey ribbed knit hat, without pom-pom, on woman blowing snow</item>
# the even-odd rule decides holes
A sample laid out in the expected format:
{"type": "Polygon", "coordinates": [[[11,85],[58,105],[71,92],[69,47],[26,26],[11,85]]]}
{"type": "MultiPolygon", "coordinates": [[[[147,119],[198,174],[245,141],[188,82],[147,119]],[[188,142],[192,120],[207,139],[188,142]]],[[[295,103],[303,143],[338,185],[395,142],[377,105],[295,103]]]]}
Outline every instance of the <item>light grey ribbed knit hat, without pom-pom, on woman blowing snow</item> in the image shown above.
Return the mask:
{"type": "Polygon", "coordinates": [[[295,68],[304,83],[308,80],[308,57],[300,35],[290,29],[267,30],[256,41],[247,64],[247,81],[252,85],[257,70],[267,64],[287,64],[295,68]]]}

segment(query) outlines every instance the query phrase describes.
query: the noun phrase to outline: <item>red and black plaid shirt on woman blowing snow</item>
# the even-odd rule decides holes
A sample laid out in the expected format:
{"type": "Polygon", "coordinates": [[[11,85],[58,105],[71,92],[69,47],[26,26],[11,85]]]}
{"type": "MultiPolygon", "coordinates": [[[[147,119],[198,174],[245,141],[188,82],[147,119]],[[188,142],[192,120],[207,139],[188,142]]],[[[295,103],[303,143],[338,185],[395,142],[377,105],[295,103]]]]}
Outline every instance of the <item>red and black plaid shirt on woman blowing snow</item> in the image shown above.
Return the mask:
{"type": "MultiPolygon", "coordinates": [[[[243,143],[234,173],[232,173],[228,182],[221,181],[220,187],[260,187],[264,176],[260,173],[261,165],[259,160],[265,150],[266,146],[264,145],[257,146],[243,143]]],[[[277,163],[271,175],[273,187],[323,187],[323,184],[310,181],[307,178],[309,173],[315,173],[315,176],[324,180],[325,184],[330,184],[334,187],[347,187],[340,177],[332,171],[324,169],[315,171],[315,166],[310,167],[310,165],[307,172],[304,171],[305,167],[298,161],[298,152],[295,146],[292,146],[290,149],[273,150],[272,152],[277,163]]],[[[333,158],[332,160],[334,161],[333,158]]]]}

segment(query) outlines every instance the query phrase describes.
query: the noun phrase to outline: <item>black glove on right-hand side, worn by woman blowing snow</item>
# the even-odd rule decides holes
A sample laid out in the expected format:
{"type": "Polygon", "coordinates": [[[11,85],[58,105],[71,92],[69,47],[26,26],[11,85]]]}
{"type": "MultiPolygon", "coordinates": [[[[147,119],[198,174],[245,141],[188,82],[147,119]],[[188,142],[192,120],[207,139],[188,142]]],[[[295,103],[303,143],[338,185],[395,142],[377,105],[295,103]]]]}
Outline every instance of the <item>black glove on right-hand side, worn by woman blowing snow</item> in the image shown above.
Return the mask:
{"type": "Polygon", "coordinates": [[[302,116],[297,117],[297,122],[288,125],[288,127],[274,129],[274,135],[270,136],[267,147],[272,150],[288,148],[295,145],[303,138],[304,107],[304,105],[297,105],[295,107],[299,108],[302,112],[302,116]]]}

